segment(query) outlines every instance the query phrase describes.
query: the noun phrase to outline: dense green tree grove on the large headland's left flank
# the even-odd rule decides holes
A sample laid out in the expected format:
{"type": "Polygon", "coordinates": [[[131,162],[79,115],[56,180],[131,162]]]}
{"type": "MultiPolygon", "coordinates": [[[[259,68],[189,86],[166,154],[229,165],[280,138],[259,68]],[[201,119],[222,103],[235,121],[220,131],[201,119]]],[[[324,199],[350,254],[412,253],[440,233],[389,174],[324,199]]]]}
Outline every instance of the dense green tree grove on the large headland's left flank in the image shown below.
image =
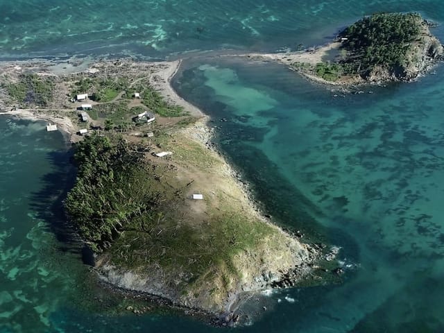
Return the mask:
{"type": "Polygon", "coordinates": [[[92,135],[76,144],[74,159],[78,174],[65,206],[93,250],[110,246],[135,220],[149,223],[161,196],[141,153],[123,139],[92,135]]]}

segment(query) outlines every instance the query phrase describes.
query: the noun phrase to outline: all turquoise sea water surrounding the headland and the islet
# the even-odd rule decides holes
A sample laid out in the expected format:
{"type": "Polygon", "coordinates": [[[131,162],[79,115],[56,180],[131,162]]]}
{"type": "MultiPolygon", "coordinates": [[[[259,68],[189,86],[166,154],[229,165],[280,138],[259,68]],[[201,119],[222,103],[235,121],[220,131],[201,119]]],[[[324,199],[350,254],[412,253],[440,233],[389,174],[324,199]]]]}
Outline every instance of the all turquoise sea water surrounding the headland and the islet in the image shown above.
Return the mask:
{"type": "MultiPolygon", "coordinates": [[[[275,222],[341,247],[345,270],[341,284],[273,294],[237,331],[444,332],[444,67],[335,97],[279,65],[205,53],[322,44],[361,15],[409,10],[444,22],[436,0],[0,0],[0,57],[193,55],[173,85],[212,116],[275,222]]],[[[0,117],[0,142],[1,333],[221,331],[122,310],[64,232],[60,133],[0,117]]]]}

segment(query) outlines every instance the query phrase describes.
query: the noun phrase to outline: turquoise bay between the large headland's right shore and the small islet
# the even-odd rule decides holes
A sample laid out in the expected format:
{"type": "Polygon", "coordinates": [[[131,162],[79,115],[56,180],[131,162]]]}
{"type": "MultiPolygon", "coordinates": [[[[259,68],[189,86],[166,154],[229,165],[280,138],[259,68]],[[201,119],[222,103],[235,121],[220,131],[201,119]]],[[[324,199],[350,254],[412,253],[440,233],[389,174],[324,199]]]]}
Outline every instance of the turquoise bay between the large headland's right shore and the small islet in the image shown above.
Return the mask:
{"type": "Polygon", "coordinates": [[[294,309],[294,332],[443,332],[442,67],[337,97],[278,65],[188,67],[176,89],[213,117],[266,209],[341,247],[345,281],[294,309]]]}

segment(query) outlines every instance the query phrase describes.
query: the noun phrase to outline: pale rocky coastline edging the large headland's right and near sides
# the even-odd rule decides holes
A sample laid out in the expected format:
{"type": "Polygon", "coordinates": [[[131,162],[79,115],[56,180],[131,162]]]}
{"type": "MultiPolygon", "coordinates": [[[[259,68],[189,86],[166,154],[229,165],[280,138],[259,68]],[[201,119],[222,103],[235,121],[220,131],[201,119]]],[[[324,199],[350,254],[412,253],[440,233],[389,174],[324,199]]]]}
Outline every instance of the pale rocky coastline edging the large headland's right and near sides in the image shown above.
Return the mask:
{"type": "MultiPolygon", "coordinates": [[[[178,135],[200,144],[200,146],[207,150],[208,154],[221,162],[221,165],[216,169],[216,172],[221,178],[223,178],[223,187],[227,192],[230,192],[230,198],[235,198],[237,201],[237,207],[239,207],[239,210],[246,212],[248,216],[254,216],[255,219],[262,223],[266,223],[266,225],[270,225],[271,228],[275,228],[275,230],[278,230],[283,237],[291,237],[294,241],[299,242],[300,240],[297,235],[289,234],[282,230],[280,226],[271,222],[270,219],[266,217],[266,212],[255,203],[256,200],[253,197],[253,191],[250,190],[248,183],[244,182],[239,177],[239,173],[227,162],[223,153],[219,152],[214,144],[212,144],[212,135],[214,131],[207,123],[209,120],[209,116],[201,117],[193,125],[180,130],[178,135]]],[[[176,136],[174,138],[177,142],[182,140],[177,139],[176,136]]],[[[209,180],[209,182],[211,182],[211,180],[209,180]]],[[[218,187],[215,184],[213,185],[218,187]]],[[[318,262],[322,262],[326,257],[326,251],[324,250],[325,246],[312,246],[312,244],[305,243],[300,243],[300,245],[303,246],[303,251],[307,254],[307,258],[302,264],[295,266],[296,268],[294,268],[294,271],[292,268],[288,273],[284,274],[283,277],[289,277],[289,283],[297,284],[298,282],[305,282],[307,279],[313,279],[312,281],[314,281],[314,283],[318,283],[316,282],[317,274],[324,272],[322,270],[320,272],[316,270],[320,268],[318,262]]],[[[301,255],[300,253],[293,254],[296,256],[301,255]]],[[[191,314],[191,316],[203,318],[206,323],[216,327],[233,327],[239,323],[241,325],[246,323],[247,319],[249,321],[252,318],[252,314],[250,313],[250,310],[248,312],[244,311],[242,309],[243,305],[246,304],[248,300],[255,298],[255,302],[250,302],[250,307],[253,306],[256,313],[261,313],[264,311],[264,302],[266,302],[262,297],[262,291],[275,289],[275,287],[267,287],[266,289],[262,288],[261,286],[264,284],[264,280],[248,284],[248,287],[244,286],[236,292],[229,293],[228,298],[223,302],[223,311],[221,312],[207,309],[205,307],[199,307],[192,303],[183,304],[180,302],[179,298],[175,298],[174,296],[171,297],[168,288],[162,289],[150,286],[151,283],[158,285],[159,281],[162,279],[156,277],[147,279],[143,274],[137,272],[134,273],[125,269],[122,270],[121,268],[110,264],[107,258],[105,258],[103,262],[102,258],[99,259],[99,262],[94,267],[94,271],[98,275],[99,280],[111,289],[129,294],[140,293],[150,300],[159,302],[160,305],[168,305],[173,309],[183,310],[185,314],[191,314]]],[[[286,286],[285,284],[280,283],[281,282],[277,284],[279,286],[277,287],[278,289],[293,286],[293,284],[287,284],[286,286]]]]}

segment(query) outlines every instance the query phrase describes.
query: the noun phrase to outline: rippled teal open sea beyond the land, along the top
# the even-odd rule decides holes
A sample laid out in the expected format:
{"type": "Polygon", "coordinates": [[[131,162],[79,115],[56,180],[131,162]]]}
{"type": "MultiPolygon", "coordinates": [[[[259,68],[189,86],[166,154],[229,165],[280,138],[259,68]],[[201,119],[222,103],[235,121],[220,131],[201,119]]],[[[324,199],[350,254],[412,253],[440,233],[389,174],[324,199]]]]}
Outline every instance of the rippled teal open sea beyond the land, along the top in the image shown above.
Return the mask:
{"type": "Polygon", "coordinates": [[[137,54],[164,58],[192,50],[295,49],[331,39],[377,11],[416,10],[442,20],[442,1],[0,1],[0,58],[137,54]]]}

